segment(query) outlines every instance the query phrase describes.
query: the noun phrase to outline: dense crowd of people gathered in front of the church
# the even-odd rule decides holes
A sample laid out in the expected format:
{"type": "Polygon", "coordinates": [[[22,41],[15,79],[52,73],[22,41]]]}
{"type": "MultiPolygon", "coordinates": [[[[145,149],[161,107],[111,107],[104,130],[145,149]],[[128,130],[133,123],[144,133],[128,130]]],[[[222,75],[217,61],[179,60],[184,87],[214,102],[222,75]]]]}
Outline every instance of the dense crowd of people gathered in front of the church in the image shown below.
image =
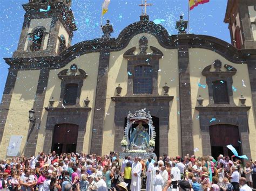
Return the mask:
{"type": "Polygon", "coordinates": [[[96,154],[38,153],[1,160],[0,190],[68,191],[132,190],[252,190],[256,188],[256,160],[243,166],[234,156],[169,157],[143,160],[111,152],[96,154]]]}

